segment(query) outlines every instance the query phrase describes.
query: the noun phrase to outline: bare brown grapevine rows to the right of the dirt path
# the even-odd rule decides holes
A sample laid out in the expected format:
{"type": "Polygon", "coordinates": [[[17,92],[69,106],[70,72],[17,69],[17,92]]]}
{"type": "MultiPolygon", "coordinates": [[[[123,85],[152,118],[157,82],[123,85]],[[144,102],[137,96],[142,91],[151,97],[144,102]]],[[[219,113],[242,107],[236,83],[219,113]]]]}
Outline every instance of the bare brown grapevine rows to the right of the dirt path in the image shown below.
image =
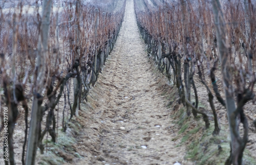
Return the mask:
{"type": "Polygon", "coordinates": [[[154,0],[135,4],[148,56],[176,86],[186,116],[202,116],[206,129],[212,116],[216,136],[221,130],[218,104],[226,109],[232,154],[225,164],[242,164],[244,148],[251,141],[249,130],[256,126],[255,115],[251,116],[256,80],[254,5],[251,1],[226,1],[222,6],[219,1],[154,0]],[[204,98],[211,114],[199,106],[198,91],[207,91],[204,98]]]}

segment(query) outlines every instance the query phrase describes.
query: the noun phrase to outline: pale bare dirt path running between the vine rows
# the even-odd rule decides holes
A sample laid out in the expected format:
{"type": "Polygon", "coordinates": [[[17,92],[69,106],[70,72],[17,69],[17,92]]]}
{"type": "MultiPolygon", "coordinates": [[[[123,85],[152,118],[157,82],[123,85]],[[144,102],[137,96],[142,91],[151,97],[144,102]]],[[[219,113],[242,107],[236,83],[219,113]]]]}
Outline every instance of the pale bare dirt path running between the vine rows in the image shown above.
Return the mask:
{"type": "Polygon", "coordinates": [[[172,141],[178,132],[172,129],[171,109],[160,89],[160,83],[166,84],[163,81],[147,57],[133,0],[127,0],[115,47],[90,91],[96,93],[92,98],[97,101],[94,112],[100,122],[89,126],[101,127],[94,164],[183,162],[184,147],[172,141]]]}

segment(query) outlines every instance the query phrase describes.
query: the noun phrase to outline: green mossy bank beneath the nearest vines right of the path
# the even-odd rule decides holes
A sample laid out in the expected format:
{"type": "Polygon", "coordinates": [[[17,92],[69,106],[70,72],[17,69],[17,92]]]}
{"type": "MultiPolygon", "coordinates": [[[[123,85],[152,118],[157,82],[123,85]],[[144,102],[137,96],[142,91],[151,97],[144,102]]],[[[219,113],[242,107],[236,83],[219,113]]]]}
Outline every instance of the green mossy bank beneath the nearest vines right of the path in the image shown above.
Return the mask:
{"type": "MultiPolygon", "coordinates": [[[[199,104],[199,106],[204,107],[202,104],[199,104]]],[[[223,130],[220,131],[220,134],[213,136],[214,121],[210,121],[210,127],[205,129],[202,116],[198,115],[196,119],[193,117],[188,118],[184,107],[180,108],[172,118],[176,119],[175,123],[180,127],[179,134],[182,135],[181,142],[176,147],[184,145],[185,142],[188,144],[186,159],[195,161],[199,165],[221,165],[225,163],[230,152],[230,142],[227,141],[229,132],[226,131],[228,126],[222,125],[223,130]],[[190,128],[195,121],[197,125],[194,128],[190,128]]],[[[245,164],[256,164],[246,150],[244,152],[244,162],[245,164]]]]}

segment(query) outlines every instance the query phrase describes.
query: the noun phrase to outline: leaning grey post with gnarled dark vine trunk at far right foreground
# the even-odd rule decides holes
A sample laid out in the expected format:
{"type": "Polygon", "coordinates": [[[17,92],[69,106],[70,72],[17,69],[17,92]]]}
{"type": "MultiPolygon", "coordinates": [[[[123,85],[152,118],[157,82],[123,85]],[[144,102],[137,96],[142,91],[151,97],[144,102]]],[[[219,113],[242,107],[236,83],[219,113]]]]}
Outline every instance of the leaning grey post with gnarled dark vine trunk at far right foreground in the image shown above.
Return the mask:
{"type": "MultiPolygon", "coordinates": [[[[212,6],[215,16],[217,44],[221,60],[223,87],[231,136],[231,154],[229,159],[226,161],[226,164],[233,163],[234,165],[241,165],[243,164],[243,151],[248,141],[248,122],[243,112],[243,106],[249,100],[254,98],[252,91],[255,83],[255,76],[252,76],[248,87],[246,87],[245,77],[243,74],[240,74],[241,72],[245,73],[244,69],[242,67],[237,67],[235,62],[230,60],[231,54],[229,53],[229,47],[227,46],[226,20],[222,4],[220,1],[215,0],[212,1],[212,6]],[[233,75],[236,77],[235,80],[233,80],[233,75]],[[238,86],[237,107],[234,99],[233,81],[238,86]],[[240,136],[239,132],[238,116],[240,116],[240,121],[244,128],[243,137],[240,136]]],[[[249,71],[248,74],[251,74],[251,71],[249,71]]]]}

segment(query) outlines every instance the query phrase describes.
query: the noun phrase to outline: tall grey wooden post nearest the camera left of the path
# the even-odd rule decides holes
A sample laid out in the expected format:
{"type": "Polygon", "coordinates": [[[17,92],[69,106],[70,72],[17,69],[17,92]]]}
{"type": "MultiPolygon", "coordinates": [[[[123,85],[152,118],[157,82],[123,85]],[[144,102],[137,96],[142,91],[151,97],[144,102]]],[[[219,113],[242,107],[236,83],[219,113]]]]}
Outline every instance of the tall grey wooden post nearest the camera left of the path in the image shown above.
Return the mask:
{"type": "Polygon", "coordinates": [[[50,28],[50,15],[52,8],[52,0],[44,0],[42,5],[42,19],[40,25],[40,34],[38,39],[38,49],[37,49],[37,61],[35,70],[35,87],[32,102],[32,115],[29,128],[29,139],[27,146],[26,155],[26,165],[35,164],[36,148],[38,140],[38,126],[40,123],[41,115],[41,103],[42,97],[41,93],[44,87],[45,79],[45,61],[46,54],[48,52],[48,32],[50,28]]]}

